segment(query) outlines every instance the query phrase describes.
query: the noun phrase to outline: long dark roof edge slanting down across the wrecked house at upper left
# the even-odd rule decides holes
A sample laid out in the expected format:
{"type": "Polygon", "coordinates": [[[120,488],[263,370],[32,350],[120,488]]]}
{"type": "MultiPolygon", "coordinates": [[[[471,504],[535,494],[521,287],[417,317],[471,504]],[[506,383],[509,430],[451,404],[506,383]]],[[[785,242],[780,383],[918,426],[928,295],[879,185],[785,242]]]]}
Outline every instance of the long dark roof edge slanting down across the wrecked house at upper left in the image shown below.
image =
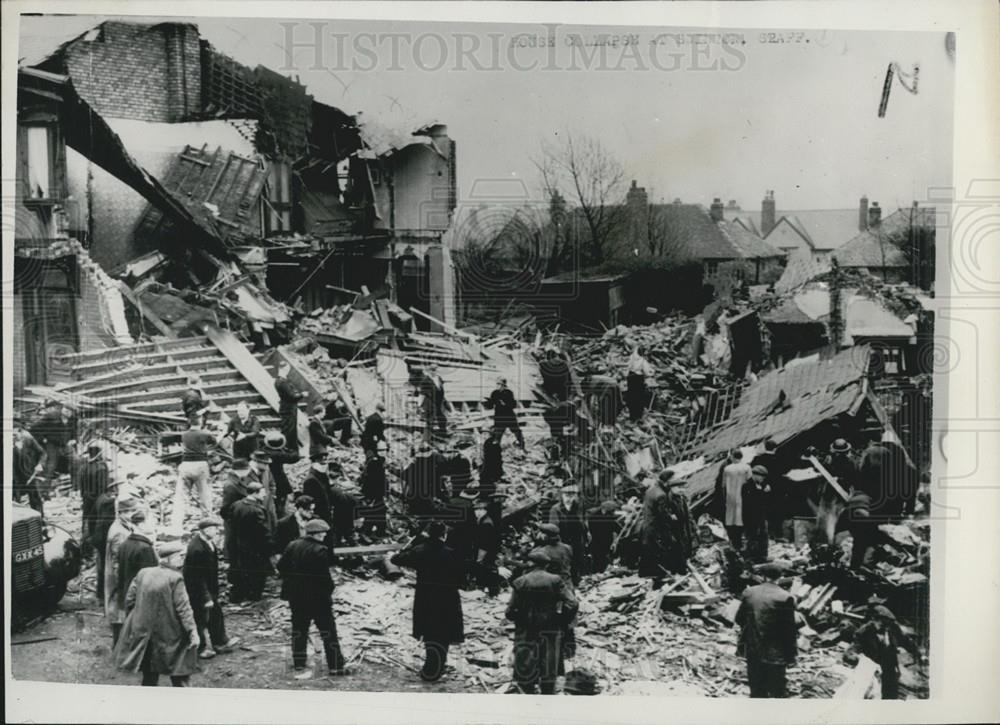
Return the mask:
{"type": "Polygon", "coordinates": [[[212,227],[194,216],[156,177],[132,158],[118,134],[79,96],[69,76],[20,68],[18,91],[57,101],[67,146],[127,184],[161,213],[169,215],[182,230],[194,237],[191,242],[202,241],[209,247],[223,248],[222,240],[212,227]]]}

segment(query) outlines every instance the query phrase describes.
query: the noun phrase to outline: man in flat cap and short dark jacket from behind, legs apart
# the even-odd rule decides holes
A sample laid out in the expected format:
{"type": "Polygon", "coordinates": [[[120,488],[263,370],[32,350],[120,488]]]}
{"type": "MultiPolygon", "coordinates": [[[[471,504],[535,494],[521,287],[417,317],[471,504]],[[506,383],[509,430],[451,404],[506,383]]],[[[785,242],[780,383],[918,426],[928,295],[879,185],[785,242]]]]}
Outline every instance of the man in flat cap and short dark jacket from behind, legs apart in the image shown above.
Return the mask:
{"type": "Polygon", "coordinates": [[[323,638],[326,666],[331,675],[347,674],[344,655],[337,638],[333,615],[333,556],[326,545],[330,525],[322,519],[306,524],[306,536],[296,539],[278,560],[281,574],[281,598],[292,610],[292,665],[305,670],[309,625],[314,623],[323,638]]]}

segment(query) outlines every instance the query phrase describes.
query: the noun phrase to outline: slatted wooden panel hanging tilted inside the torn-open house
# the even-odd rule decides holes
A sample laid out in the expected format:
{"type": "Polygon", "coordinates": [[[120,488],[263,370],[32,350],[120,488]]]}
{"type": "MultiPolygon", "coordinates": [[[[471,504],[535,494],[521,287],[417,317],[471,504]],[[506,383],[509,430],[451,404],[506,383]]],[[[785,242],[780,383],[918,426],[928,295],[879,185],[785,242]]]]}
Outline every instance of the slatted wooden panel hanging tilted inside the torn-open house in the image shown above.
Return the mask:
{"type": "MultiPolygon", "coordinates": [[[[221,147],[209,151],[186,146],[177,155],[163,185],[202,226],[212,229],[225,245],[260,236],[257,202],[267,180],[267,168],[221,147]]],[[[146,209],[135,236],[157,247],[176,238],[174,217],[156,205],[146,209]]]]}

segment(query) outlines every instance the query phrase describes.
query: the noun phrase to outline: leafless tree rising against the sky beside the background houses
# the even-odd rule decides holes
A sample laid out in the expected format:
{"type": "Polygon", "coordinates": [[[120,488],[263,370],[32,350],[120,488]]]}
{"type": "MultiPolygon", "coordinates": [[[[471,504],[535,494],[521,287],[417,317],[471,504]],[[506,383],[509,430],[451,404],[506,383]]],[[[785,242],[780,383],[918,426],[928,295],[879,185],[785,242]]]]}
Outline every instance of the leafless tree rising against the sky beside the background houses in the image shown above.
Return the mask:
{"type": "Polygon", "coordinates": [[[627,220],[621,162],[599,140],[567,134],[561,144],[543,144],[535,166],[546,196],[559,193],[583,218],[588,236],[587,248],[581,250],[585,260],[600,264],[612,258],[627,220]]]}

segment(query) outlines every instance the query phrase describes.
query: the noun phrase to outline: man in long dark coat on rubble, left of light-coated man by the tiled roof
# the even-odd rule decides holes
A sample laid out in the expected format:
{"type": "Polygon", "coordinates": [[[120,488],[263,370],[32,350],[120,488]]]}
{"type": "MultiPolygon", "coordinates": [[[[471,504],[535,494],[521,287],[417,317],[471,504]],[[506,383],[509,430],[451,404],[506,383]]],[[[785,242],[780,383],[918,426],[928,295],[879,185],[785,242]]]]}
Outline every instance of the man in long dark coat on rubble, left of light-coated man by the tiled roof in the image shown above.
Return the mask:
{"type": "Polygon", "coordinates": [[[652,577],[654,587],[668,573],[687,573],[693,552],[697,532],[687,499],[673,490],[683,485],[673,471],[666,470],[650,482],[643,498],[639,576],[652,577]]]}

